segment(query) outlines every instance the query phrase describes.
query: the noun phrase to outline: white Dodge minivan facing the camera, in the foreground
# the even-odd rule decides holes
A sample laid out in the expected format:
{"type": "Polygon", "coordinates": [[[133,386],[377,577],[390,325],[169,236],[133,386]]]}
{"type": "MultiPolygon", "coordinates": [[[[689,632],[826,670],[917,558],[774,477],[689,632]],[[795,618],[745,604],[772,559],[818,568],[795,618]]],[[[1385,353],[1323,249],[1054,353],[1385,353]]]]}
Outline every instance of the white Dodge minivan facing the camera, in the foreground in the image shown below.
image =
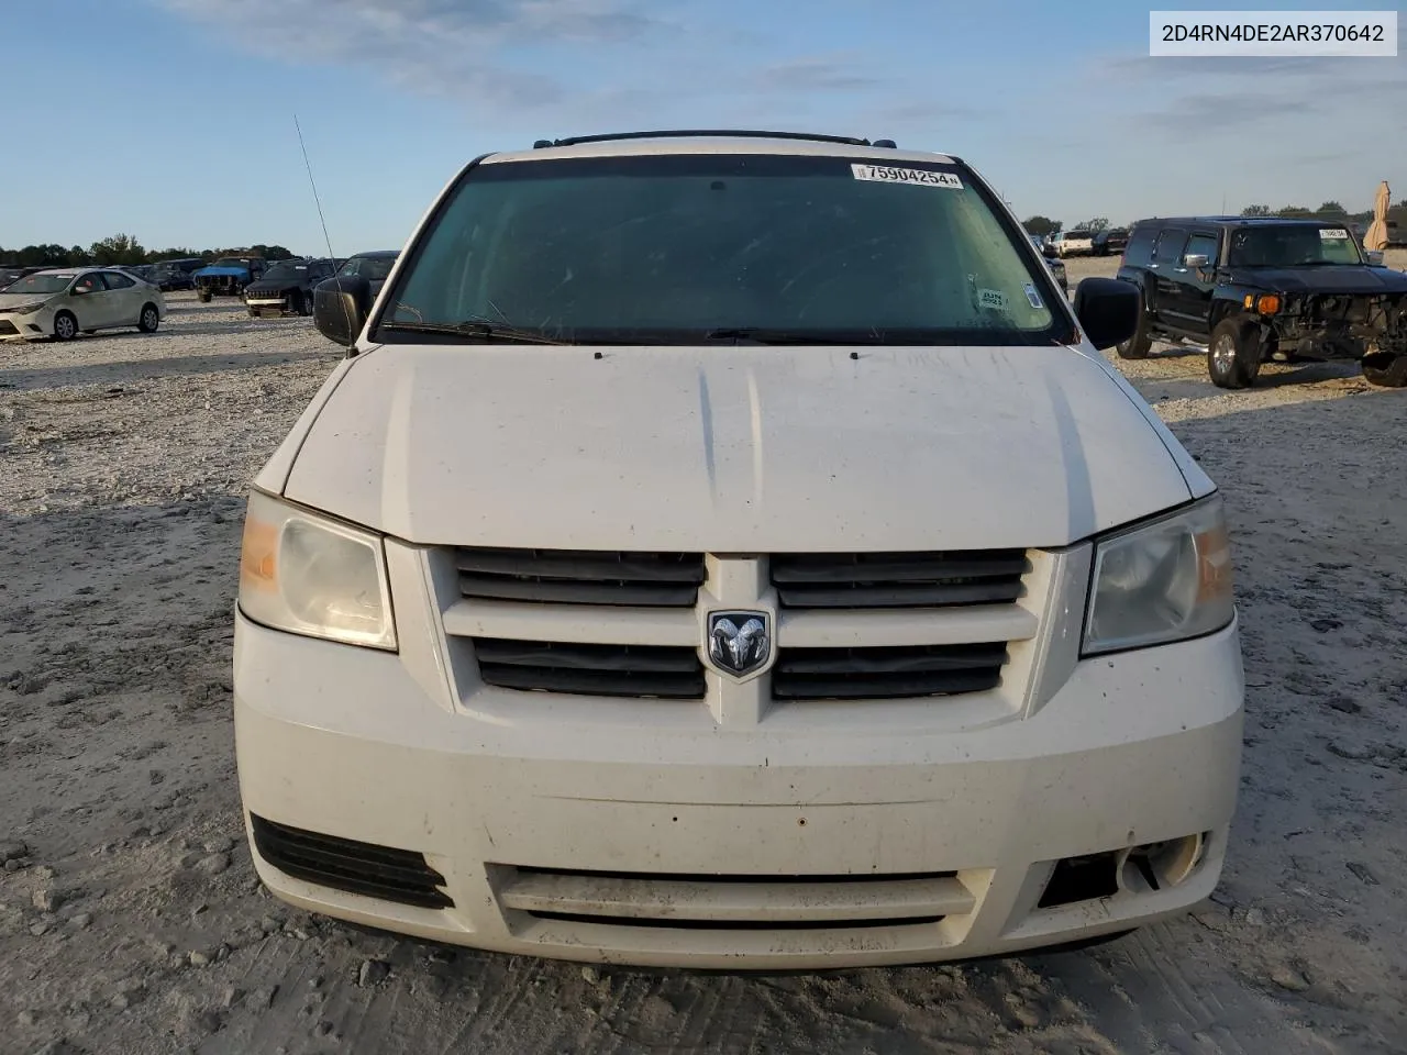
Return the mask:
{"type": "Polygon", "coordinates": [[[1221,498],[961,159],[650,132],[467,165],[257,474],[257,872],[582,961],[1006,954],[1221,874],[1221,498]]]}

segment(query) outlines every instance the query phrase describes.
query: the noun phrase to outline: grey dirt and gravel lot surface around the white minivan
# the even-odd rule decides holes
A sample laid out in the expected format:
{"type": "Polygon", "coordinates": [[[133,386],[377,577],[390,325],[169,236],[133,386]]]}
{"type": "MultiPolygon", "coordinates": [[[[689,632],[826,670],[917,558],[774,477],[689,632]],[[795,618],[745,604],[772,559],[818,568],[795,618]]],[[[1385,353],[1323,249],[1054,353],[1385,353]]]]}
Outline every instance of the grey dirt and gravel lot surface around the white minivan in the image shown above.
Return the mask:
{"type": "Polygon", "coordinates": [[[594,969],[260,890],[229,713],[242,497],[338,350],[307,319],[172,305],[156,336],[0,345],[6,1055],[1407,1049],[1407,391],[1121,364],[1235,530],[1245,775],[1204,910],[962,966],[594,969]]]}

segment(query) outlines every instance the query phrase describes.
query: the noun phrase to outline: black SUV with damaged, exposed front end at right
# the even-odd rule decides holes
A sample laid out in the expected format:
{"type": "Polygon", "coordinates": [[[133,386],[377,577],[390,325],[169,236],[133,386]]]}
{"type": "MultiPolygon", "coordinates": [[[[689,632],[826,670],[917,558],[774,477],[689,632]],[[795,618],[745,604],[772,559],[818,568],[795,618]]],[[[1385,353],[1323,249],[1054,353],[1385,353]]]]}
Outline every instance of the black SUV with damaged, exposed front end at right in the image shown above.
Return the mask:
{"type": "Polygon", "coordinates": [[[1155,338],[1207,345],[1207,373],[1245,388],[1275,357],[1356,359],[1369,383],[1407,385],[1407,274],[1366,256],[1342,224],[1182,217],[1133,225],[1119,277],[1142,294],[1144,359],[1155,338]]]}

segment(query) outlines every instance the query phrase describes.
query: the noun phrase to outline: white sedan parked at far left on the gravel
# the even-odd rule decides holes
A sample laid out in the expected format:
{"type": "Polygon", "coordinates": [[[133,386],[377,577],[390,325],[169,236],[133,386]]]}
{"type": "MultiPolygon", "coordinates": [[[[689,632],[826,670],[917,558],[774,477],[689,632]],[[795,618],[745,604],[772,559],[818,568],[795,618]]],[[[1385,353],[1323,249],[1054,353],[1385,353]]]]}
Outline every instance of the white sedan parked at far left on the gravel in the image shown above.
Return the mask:
{"type": "Polygon", "coordinates": [[[0,340],[72,340],[97,329],[155,333],[166,298],[120,267],[56,267],[0,290],[0,340]]]}

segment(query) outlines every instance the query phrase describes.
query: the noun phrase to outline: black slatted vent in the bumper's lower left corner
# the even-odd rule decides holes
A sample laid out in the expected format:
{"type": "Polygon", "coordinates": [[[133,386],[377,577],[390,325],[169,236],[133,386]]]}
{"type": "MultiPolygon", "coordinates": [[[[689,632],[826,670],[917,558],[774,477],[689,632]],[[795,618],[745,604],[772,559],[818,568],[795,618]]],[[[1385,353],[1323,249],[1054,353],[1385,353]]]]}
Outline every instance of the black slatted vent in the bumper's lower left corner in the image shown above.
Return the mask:
{"type": "Polygon", "coordinates": [[[303,831],[259,816],[252,826],[259,855],[295,879],[421,909],[454,904],[439,889],[445,876],[414,850],[303,831]]]}

